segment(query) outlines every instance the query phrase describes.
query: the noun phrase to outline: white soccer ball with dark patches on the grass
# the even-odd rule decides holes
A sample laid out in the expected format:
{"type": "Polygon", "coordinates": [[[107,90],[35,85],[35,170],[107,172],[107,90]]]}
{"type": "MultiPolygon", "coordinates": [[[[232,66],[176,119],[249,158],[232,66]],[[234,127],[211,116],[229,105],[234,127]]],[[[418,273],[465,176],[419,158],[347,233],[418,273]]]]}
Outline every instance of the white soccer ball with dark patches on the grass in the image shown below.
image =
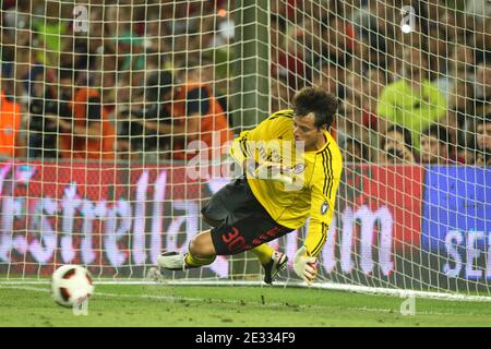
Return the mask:
{"type": "Polygon", "coordinates": [[[80,266],[67,264],[55,270],[51,278],[51,296],[62,306],[73,306],[94,294],[91,273],[80,266]]]}

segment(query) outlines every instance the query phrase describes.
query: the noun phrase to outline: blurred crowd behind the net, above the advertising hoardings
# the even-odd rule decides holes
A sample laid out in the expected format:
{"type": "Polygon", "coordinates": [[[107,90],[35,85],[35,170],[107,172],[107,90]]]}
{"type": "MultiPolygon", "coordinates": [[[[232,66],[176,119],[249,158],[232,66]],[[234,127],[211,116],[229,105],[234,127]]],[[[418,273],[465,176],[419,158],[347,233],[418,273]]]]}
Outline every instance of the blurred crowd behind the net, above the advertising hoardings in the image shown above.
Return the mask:
{"type": "MultiPolygon", "coordinates": [[[[231,140],[227,0],[1,1],[0,154],[215,158],[231,140]],[[89,5],[88,5],[89,2],[89,5]]],[[[491,164],[487,0],[271,0],[271,109],[339,99],[347,163],[491,164]]]]}

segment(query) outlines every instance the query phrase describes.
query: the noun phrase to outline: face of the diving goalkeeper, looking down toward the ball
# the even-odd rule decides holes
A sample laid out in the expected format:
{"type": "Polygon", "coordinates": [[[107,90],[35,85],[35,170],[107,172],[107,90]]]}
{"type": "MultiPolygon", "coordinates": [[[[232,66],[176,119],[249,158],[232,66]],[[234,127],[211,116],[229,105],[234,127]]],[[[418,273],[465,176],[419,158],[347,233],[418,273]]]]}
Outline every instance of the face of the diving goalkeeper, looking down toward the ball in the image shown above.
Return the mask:
{"type": "Polygon", "coordinates": [[[313,112],[307,116],[294,117],[294,136],[297,147],[303,148],[306,152],[312,152],[321,148],[324,145],[324,131],[325,128],[318,128],[314,124],[315,117],[313,112]]]}

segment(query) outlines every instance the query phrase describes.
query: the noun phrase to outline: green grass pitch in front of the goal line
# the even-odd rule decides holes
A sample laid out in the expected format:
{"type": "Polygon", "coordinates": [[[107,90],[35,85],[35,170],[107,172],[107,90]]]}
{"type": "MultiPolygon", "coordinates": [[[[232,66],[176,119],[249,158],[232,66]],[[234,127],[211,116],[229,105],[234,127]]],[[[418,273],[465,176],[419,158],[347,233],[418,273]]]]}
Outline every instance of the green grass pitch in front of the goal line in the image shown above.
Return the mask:
{"type": "Polygon", "coordinates": [[[55,304],[48,285],[0,284],[0,326],[491,326],[491,306],[283,287],[96,285],[87,315],[55,304]]]}

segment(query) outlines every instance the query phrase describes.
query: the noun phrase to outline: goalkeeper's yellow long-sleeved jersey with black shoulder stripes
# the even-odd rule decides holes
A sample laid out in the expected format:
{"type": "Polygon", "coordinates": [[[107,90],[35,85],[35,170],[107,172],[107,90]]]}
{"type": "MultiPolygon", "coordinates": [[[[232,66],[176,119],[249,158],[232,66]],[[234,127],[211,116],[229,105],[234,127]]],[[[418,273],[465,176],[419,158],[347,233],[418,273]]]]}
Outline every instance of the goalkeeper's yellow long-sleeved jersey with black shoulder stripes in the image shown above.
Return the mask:
{"type": "Polygon", "coordinates": [[[290,229],[298,229],[310,217],[304,245],[318,256],[333,220],[343,158],[336,142],[325,132],[326,143],[315,152],[295,152],[294,111],[279,110],[255,129],[243,131],[233,140],[231,156],[243,164],[280,163],[291,168],[291,185],[274,179],[256,179],[247,172],[249,185],[272,218],[290,229]],[[294,149],[294,151],[291,151],[294,149]]]}

